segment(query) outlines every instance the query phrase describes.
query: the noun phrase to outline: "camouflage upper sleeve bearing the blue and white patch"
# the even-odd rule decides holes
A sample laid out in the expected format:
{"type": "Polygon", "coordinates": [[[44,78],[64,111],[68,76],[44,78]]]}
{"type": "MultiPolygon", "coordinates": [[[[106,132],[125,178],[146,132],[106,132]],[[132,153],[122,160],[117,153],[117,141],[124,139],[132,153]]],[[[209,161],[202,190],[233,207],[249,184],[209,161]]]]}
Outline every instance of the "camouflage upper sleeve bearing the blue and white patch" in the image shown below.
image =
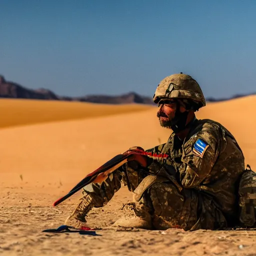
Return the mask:
{"type": "Polygon", "coordinates": [[[200,131],[184,145],[181,161],[184,173],[180,178],[184,188],[196,188],[210,176],[219,154],[221,136],[218,130],[200,131]]]}

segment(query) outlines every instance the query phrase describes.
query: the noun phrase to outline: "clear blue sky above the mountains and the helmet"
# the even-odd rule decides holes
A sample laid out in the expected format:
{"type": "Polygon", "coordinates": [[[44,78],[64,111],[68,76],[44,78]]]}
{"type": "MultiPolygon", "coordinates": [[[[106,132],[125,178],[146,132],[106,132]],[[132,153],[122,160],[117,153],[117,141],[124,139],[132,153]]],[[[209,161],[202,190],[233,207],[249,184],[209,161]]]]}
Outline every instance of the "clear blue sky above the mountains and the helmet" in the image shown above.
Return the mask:
{"type": "Polygon", "coordinates": [[[256,91],[255,0],[0,0],[0,74],[60,95],[256,91]]]}

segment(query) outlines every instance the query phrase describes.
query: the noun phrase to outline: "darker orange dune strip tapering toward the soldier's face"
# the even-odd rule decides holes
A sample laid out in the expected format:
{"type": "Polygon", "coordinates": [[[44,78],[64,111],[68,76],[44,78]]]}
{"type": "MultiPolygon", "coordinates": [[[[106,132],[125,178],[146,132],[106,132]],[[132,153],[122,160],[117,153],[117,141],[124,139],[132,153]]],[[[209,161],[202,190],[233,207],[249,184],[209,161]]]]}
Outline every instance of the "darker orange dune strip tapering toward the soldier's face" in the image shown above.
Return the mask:
{"type": "Polygon", "coordinates": [[[106,105],[57,100],[0,98],[0,128],[50,121],[113,115],[148,109],[142,104],[106,105]]]}

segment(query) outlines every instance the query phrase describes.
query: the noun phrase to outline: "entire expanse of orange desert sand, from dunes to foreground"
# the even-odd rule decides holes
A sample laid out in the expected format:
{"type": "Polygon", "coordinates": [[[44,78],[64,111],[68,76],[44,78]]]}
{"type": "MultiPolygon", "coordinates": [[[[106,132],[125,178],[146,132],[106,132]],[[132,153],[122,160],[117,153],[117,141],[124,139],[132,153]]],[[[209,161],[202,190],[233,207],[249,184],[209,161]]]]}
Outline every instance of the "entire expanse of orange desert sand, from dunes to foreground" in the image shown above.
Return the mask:
{"type": "MultiPolygon", "coordinates": [[[[209,103],[197,118],[221,122],[256,169],[256,97],[209,103]]],[[[53,201],[88,172],[130,146],[167,140],[157,107],[0,99],[0,254],[2,255],[256,255],[255,230],[124,230],[111,224],[132,193],[121,188],[88,214],[97,236],[44,233],[64,223],[80,192],[53,201]]]]}

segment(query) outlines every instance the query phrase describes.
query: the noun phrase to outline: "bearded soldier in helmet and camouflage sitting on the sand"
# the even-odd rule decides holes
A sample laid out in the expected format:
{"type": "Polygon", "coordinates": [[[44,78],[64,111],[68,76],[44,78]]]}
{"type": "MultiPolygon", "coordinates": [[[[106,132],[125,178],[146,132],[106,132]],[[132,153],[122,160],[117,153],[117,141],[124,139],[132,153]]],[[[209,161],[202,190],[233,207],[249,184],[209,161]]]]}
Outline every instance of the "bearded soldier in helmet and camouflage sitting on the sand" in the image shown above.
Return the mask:
{"type": "MultiPolygon", "coordinates": [[[[251,187],[240,182],[245,171],[242,150],[220,123],[196,119],[194,112],[205,106],[196,80],[182,73],[167,76],[157,86],[153,101],[158,103],[160,125],[173,132],[166,143],[146,151],[166,153],[167,160],[130,157],[102,183],[83,188],[84,195],[66,224],[84,225],[88,211],[104,206],[123,183],[134,192],[136,202],[126,204],[133,215],[114,225],[184,230],[221,229],[239,221],[253,225],[255,200],[245,197],[251,187]]],[[[254,172],[245,172],[244,180],[252,180],[254,172]]]]}

